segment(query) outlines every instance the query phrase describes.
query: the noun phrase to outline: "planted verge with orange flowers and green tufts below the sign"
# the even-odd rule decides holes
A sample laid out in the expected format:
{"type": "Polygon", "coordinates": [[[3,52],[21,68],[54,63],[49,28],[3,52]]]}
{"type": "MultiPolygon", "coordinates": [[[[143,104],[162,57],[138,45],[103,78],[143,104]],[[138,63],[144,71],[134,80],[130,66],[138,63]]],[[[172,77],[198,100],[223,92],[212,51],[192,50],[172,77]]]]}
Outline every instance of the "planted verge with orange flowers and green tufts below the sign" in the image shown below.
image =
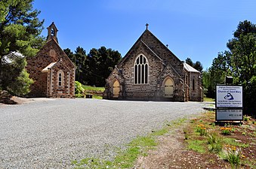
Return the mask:
{"type": "Polygon", "coordinates": [[[227,161],[231,168],[251,167],[251,164],[256,164],[254,154],[251,153],[256,143],[254,121],[246,121],[244,125],[227,123],[225,127],[221,127],[215,125],[214,116],[215,113],[212,111],[190,120],[184,139],[187,149],[202,153],[204,156],[209,153],[217,155],[218,158],[227,161]],[[228,134],[224,130],[227,130],[228,134]]]}

